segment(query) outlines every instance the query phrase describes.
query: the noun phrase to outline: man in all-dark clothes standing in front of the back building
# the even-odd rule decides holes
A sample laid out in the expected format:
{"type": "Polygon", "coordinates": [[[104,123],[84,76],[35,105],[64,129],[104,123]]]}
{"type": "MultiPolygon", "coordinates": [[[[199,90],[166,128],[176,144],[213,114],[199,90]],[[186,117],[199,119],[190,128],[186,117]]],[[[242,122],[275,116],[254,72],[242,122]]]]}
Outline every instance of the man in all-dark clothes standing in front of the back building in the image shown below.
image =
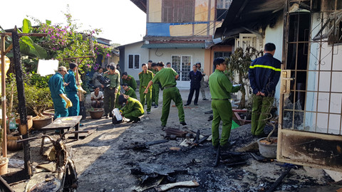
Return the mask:
{"type": "Polygon", "coordinates": [[[192,96],[195,94],[194,105],[198,105],[198,95],[199,95],[199,87],[201,87],[202,73],[197,70],[196,65],[192,65],[192,71],[189,73],[190,75],[190,92],[189,97],[187,97],[187,104],[185,106],[191,104],[192,96]]]}

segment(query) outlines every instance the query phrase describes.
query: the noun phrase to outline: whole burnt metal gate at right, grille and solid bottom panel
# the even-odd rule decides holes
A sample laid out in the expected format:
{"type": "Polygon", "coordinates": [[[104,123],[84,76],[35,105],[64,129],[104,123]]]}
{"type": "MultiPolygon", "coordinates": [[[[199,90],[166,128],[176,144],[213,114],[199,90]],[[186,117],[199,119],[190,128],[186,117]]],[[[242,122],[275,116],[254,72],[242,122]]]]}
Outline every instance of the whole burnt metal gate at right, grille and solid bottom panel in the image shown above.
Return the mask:
{"type": "Polygon", "coordinates": [[[342,1],[284,9],[277,159],[342,171],[342,1]]]}

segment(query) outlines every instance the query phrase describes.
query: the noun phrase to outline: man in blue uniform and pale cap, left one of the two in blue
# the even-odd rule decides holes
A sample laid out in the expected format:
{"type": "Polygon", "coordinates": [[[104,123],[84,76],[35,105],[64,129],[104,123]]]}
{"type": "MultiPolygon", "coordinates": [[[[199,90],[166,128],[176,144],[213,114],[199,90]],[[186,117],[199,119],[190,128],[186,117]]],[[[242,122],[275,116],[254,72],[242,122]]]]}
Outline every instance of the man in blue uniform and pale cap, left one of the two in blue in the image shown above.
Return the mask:
{"type": "Polygon", "coordinates": [[[66,97],[64,92],[63,76],[66,73],[68,73],[66,67],[61,66],[58,68],[58,72],[48,80],[48,87],[50,88],[53,107],[55,109],[55,119],[58,117],[68,117],[68,107],[73,106],[71,100],[66,97]]]}

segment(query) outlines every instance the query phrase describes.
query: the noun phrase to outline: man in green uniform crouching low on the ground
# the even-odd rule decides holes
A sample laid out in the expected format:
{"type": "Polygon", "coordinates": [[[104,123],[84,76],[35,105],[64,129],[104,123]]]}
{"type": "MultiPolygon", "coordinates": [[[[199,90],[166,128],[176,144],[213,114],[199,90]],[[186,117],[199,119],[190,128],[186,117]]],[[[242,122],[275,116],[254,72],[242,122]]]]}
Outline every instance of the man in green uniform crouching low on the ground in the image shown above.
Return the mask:
{"type": "Polygon", "coordinates": [[[130,122],[138,122],[140,121],[140,116],[144,114],[144,107],[142,107],[141,103],[135,98],[128,97],[127,95],[119,96],[119,105],[123,105],[125,103],[125,107],[121,110],[123,117],[130,119],[130,122]]]}

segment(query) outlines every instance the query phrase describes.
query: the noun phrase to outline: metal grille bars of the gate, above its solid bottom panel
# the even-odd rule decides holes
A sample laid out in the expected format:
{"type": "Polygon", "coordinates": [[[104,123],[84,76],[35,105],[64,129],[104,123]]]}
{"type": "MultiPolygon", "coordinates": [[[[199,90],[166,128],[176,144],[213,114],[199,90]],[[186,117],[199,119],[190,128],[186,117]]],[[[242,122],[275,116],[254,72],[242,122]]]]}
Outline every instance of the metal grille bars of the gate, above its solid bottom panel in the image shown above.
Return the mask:
{"type": "Polygon", "coordinates": [[[289,1],[282,128],[341,135],[342,1],[289,1]]]}

